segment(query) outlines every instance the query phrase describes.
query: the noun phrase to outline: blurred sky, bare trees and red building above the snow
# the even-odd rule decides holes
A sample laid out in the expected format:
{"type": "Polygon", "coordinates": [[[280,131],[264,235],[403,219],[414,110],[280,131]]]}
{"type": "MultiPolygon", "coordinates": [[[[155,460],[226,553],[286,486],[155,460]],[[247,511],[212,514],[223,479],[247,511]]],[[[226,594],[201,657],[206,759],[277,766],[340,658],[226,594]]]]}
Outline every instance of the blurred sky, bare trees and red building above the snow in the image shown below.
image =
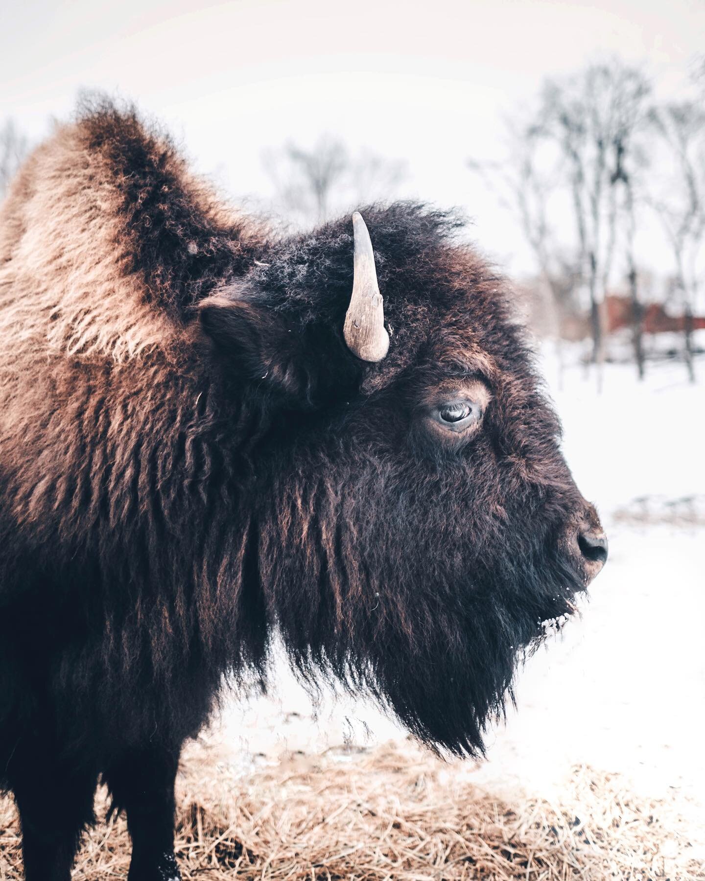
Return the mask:
{"type": "MultiPolygon", "coordinates": [[[[5,4],[0,195],[80,93],[133,100],[279,226],[459,206],[560,366],[678,359],[705,285],[705,6],[5,4]]],[[[559,378],[560,379],[560,378],[559,378]]]]}

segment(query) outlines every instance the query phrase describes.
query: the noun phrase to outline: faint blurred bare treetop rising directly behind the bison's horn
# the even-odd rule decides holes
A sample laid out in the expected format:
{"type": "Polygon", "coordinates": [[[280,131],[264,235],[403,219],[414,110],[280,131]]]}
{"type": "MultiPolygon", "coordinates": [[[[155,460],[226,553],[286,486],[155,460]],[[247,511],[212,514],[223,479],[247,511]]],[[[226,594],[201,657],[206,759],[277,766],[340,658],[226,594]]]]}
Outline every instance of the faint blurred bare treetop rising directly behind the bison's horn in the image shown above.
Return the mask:
{"type": "Polygon", "coordinates": [[[407,175],[405,163],[374,152],[348,152],[324,135],[310,150],[292,142],[264,151],[263,166],[281,207],[302,226],[322,223],[352,204],[388,199],[407,175]]]}

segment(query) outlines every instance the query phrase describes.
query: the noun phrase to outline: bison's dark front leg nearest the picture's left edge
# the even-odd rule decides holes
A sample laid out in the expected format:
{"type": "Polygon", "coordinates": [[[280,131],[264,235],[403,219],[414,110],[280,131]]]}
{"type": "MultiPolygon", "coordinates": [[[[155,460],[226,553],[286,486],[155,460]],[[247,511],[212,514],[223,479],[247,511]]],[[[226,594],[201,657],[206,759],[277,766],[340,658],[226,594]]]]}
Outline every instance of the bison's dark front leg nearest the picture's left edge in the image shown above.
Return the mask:
{"type": "Polygon", "coordinates": [[[93,822],[97,774],[52,761],[41,744],[8,766],[22,826],[26,881],[69,881],[78,842],[93,822]]]}

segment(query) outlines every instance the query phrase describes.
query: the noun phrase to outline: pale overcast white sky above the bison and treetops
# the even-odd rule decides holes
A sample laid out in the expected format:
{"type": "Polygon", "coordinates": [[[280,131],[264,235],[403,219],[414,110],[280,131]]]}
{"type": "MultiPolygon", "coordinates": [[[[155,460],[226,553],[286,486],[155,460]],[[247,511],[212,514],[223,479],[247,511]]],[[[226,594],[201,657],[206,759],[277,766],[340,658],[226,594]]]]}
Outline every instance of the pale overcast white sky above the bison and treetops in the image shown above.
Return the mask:
{"type": "Polygon", "coordinates": [[[492,158],[501,115],[546,75],[619,53],[678,95],[705,48],[702,0],[4,0],[0,121],[39,139],[81,88],[136,100],[197,167],[268,196],[263,147],[323,132],[409,160],[404,195],[461,204],[509,269],[520,236],[464,160],[492,158]]]}

